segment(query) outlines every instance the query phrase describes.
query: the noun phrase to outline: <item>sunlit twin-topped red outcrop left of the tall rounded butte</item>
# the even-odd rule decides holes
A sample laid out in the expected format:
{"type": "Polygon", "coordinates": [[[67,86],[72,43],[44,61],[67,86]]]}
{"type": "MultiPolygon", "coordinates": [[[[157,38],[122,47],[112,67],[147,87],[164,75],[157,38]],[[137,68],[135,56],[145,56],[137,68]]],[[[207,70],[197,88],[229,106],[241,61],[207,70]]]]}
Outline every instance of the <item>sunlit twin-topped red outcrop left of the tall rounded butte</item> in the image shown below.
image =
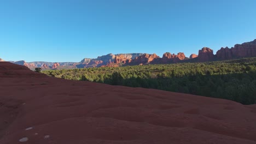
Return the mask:
{"type": "Polygon", "coordinates": [[[171,54],[170,52],[164,53],[161,58],[161,63],[176,63],[181,60],[185,59],[185,55],[183,52],[179,52],[177,55],[174,53],[171,54]]]}

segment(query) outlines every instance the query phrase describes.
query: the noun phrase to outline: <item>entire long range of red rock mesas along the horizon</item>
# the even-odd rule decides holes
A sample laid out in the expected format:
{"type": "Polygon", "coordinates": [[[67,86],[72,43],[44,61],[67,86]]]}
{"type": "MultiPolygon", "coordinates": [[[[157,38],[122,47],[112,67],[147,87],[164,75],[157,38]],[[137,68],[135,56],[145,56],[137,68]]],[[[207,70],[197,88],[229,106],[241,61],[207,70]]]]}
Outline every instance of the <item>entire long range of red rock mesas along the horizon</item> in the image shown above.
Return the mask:
{"type": "MultiPolygon", "coordinates": [[[[91,67],[120,67],[122,65],[144,65],[144,64],[168,64],[178,62],[208,62],[223,61],[235,58],[256,57],[256,39],[243,44],[236,44],[234,47],[222,47],[216,55],[209,47],[203,47],[199,50],[198,55],[191,54],[189,58],[185,57],[183,52],[174,53],[165,52],[162,58],[155,53],[119,53],[114,55],[98,56],[97,58],[84,58],[80,62],[25,62],[17,61],[11,63],[25,65],[30,69],[74,69],[74,68],[91,68],[91,67]],[[193,60],[192,60],[193,59],[193,60]]],[[[3,61],[3,59],[0,59],[3,61]]]]}

